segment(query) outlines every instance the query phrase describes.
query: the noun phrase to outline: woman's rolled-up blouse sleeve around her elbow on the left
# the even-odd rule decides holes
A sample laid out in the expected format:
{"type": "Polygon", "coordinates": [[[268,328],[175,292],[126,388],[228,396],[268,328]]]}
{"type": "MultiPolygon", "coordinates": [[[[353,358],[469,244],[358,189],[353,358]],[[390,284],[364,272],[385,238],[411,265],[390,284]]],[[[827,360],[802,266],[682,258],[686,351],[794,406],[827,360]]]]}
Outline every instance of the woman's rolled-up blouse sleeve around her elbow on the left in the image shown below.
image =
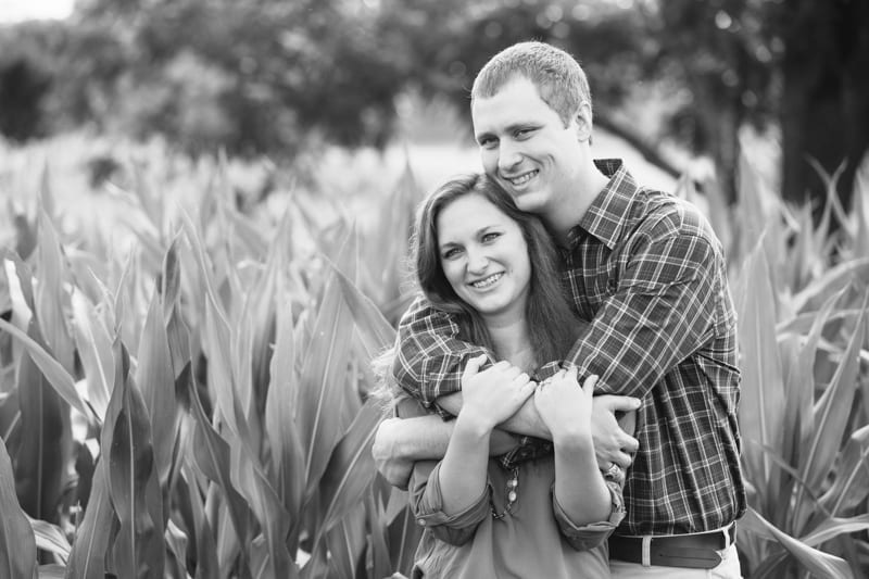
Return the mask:
{"type": "Polygon", "coordinates": [[[491,513],[491,483],[487,482],[480,496],[464,511],[454,515],[443,512],[443,495],[439,473],[440,461],[417,461],[407,488],[411,507],[417,524],[431,530],[436,538],[452,545],[468,542],[477,527],[491,513]]]}

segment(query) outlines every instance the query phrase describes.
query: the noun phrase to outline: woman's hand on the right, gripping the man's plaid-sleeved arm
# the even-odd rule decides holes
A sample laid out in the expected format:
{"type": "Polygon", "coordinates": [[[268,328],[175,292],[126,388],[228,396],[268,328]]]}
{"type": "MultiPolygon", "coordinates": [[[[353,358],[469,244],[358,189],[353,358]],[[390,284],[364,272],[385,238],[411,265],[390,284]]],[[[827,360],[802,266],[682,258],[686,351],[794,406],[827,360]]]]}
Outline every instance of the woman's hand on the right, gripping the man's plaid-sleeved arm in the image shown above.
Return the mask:
{"type": "Polygon", "coordinates": [[[591,410],[597,376],[590,376],[582,388],[577,382],[577,368],[571,366],[540,385],[534,392],[534,406],[555,442],[565,437],[591,440],[591,410]]]}

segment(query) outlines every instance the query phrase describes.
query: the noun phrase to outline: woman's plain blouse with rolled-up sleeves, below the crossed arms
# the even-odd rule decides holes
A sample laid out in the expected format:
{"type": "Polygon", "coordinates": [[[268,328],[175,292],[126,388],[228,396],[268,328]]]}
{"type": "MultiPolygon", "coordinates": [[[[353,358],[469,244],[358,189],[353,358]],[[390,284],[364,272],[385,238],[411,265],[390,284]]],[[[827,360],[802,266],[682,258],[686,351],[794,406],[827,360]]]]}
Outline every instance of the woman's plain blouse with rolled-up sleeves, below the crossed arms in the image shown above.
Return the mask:
{"type": "Polygon", "coordinates": [[[552,455],[521,463],[516,501],[504,513],[513,471],[490,458],[488,484],[462,513],[443,512],[440,461],[419,461],[408,491],[416,520],[425,527],[412,577],[608,578],[606,539],[625,517],[625,474],[604,476],[613,508],[607,520],[575,525],[554,494],[552,455]]]}

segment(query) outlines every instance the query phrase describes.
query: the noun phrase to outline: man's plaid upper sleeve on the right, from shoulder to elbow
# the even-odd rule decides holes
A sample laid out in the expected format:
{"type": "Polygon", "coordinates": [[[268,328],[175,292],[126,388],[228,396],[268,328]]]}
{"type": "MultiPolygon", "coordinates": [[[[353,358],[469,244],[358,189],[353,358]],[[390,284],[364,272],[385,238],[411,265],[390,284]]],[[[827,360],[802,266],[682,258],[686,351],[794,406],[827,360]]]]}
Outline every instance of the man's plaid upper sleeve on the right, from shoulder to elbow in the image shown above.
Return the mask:
{"type": "Polygon", "coordinates": [[[644,398],[711,336],[720,252],[666,223],[635,242],[616,292],[568,354],[580,379],[601,377],[599,392],[644,398]]]}

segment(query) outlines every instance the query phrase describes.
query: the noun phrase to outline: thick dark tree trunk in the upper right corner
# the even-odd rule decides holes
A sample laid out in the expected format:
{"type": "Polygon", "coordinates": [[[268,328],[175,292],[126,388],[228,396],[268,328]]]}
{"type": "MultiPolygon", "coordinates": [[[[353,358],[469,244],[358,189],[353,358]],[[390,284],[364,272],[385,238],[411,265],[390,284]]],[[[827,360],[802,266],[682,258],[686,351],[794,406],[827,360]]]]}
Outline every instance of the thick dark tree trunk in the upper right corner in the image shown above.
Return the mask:
{"type": "Polygon", "coordinates": [[[869,148],[869,2],[786,2],[782,63],[782,192],[823,207],[828,174],[845,163],[837,193],[847,207],[869,148]]]}

